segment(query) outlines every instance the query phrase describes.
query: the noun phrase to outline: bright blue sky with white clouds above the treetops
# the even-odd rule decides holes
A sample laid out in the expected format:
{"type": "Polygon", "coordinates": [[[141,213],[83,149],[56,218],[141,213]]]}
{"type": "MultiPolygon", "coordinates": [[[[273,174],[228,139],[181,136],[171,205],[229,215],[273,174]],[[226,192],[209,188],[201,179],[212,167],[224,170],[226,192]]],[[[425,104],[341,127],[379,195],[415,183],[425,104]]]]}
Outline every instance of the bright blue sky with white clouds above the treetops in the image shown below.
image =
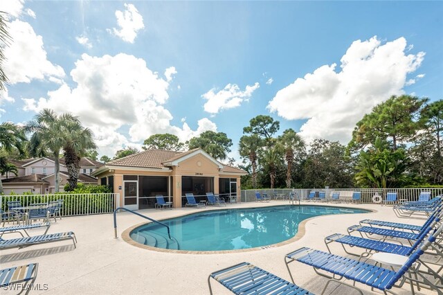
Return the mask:
{"type": "Polygon", "coordinates": [[[346,145],[392,95],[443,99],[441,1],[0,1],[0,121],[79,116],[99,157],[257,115],[346,145]]]}

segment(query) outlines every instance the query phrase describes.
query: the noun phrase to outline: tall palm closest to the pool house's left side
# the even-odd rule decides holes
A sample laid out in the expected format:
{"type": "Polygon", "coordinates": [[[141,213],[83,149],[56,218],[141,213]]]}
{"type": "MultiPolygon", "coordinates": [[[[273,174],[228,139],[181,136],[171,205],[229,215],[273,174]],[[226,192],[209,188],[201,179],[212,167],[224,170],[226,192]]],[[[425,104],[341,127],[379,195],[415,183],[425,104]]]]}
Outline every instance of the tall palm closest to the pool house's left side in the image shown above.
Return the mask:
{"type": "Polygon", "coordinates": [[[80,120],[70,121],[66,127],[63,145],[64,161],[69,175],[68,190],[74,190],[80,175],[80,159],[88,150],[95,149],[96,143],[93,141],[91,129],[84,128],[80,120]]]}

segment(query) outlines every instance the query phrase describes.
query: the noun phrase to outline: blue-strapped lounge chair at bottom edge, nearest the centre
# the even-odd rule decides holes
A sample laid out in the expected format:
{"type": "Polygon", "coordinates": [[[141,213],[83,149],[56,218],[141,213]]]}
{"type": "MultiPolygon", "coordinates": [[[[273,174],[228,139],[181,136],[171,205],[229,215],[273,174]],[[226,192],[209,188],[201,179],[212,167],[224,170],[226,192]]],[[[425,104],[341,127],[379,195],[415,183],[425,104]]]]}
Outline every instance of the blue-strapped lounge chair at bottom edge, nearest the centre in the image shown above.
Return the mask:
{"type": "Polygon", "coordinates": [[[234,294],[312,294],[248,262],[242,262],[210,274],[208,287],[209,293],[212,295],[210,278],[217,280],[234,294]]]}

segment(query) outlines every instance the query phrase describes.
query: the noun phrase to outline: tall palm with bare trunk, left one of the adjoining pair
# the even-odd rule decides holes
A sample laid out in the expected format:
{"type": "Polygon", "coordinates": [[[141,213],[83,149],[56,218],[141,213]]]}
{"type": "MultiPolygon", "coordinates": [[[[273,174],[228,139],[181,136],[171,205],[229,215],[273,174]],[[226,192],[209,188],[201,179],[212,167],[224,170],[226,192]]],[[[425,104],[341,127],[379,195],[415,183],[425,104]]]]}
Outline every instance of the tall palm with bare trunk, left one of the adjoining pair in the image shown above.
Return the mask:
{"type": "Polygon", "coordinates": [[[55,193],[60,188],[60,152],[66,143],[67,126],[78,121],[71,114],[57,116],[51,109],[43,109],[26,125],[26,132],[33,132],[29,141],[32,157],[41,157],[50,154],[55,165],[55,193]]]}

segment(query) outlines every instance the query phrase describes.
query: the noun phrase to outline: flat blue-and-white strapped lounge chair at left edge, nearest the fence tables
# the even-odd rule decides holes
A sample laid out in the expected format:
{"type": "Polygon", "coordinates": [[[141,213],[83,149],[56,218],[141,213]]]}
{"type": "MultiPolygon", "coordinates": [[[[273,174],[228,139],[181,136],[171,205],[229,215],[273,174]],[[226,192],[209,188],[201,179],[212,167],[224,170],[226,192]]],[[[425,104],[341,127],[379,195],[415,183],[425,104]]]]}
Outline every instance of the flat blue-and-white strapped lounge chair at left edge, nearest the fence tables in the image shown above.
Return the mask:
{"type": "Polygon", "coordinates": [[[72,240],[74,248],[77,248],[75,246],[77,238],[75,238],[75,234],[72,231],[69,231],[66,233],[49,233],[46,235],[34,235],[32,237],[15,238],[10,240],[4,240],[0,238],[0,250],[12,249],[12,248],[22,249],[37,244],[60,242],[64,240],[72,240]]]}

